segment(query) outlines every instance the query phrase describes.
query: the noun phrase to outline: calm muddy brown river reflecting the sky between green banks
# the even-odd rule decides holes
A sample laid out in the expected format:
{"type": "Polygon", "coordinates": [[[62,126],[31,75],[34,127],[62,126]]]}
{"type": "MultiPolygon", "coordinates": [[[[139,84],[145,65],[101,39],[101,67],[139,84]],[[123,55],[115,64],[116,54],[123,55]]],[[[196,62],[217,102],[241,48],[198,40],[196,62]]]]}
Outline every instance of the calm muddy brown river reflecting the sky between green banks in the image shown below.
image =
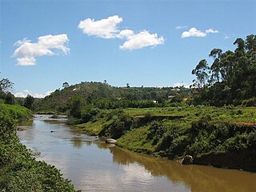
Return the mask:
{"type": "Polygon", "coordinates": [[[256,191],[256,174],[177,162],[136,154],[105,144],[67,126],[65,119],[37,115],[18,131],[37,158],[61,170],[82,191],[256,191]]]}

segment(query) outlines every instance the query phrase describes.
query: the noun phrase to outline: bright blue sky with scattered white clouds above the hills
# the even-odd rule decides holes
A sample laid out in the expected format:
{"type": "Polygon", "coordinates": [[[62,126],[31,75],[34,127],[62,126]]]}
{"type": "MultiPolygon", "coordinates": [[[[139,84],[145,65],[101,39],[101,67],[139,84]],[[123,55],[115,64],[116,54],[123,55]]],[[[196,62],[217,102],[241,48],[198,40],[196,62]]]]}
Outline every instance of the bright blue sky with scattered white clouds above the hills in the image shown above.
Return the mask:
{"type": "Polygon", "coordinates": [[[0,19],[1,78],[42,97],[63,82],[188,85],[210,50],[255,34],[256,2],[1,0],[0,19]]]}

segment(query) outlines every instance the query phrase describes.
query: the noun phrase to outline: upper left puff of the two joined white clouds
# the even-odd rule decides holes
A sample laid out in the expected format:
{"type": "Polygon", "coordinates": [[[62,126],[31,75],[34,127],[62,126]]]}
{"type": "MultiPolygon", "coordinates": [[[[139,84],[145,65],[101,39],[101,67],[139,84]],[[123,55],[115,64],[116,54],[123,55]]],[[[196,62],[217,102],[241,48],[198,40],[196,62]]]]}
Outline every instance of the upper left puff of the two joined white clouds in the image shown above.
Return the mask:
{"type": "Polygon", "coordinates": [[[122,18],[119,18],[118,15],[103,18],[98,21],[86,18],[79,22],[78,28],[81,29],[84,34],[99,38],[115,38],[116,34],[119,33],[117,25],[120,22],[122,22],[122,18]]]}

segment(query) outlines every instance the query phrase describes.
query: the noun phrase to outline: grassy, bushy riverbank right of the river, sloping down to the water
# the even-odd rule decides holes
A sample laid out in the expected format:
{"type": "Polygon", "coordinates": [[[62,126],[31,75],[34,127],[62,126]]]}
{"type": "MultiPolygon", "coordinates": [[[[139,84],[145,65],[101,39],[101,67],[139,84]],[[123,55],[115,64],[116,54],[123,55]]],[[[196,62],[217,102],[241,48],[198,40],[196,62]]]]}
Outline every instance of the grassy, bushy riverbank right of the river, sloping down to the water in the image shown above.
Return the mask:
{"type": "Polygon", "coordinates": [[[255,107],[98,110],[76,126],[135,152],[174,160],[191,155],[194,164],[256,172],[255,107]]]}

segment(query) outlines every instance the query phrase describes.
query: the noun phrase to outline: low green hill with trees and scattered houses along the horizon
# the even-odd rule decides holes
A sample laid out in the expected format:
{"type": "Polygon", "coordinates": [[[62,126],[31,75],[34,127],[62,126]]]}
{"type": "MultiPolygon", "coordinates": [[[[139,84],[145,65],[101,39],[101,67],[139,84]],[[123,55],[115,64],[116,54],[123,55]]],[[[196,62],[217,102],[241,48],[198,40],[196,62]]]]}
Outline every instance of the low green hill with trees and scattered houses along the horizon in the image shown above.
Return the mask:
{"type": "Polygon", "coordinates": [[[78,98],[100,109],[146,108],[166,105],[171,100],[168,98],[170,96],[175,97],[173,102],[180,102],[189,93],[190,90],[185,87],[114,87],[102,82],[81,82],[55,90],[42,101],[36,102],[34,109],[66,112],[70,102],[78,98]]]}

